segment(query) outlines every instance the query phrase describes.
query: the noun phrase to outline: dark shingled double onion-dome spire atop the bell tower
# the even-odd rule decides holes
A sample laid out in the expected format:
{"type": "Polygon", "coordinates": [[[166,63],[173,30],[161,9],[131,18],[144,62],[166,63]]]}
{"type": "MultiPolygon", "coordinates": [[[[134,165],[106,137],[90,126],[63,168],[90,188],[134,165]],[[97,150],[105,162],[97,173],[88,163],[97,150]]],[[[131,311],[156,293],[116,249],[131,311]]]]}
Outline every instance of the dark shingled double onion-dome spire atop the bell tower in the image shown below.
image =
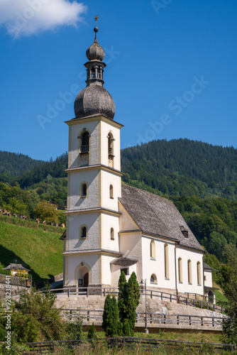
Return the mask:
{"type": "Polygon", "coordinates": [[[87,87],[82,89],[75,99],[75,117],[82,119],[83,117],[92,115],[103,115],[109,119],[114,119],[115,105],[109,92],[104,89],[104,67],[106,64],[101,60],[104,59],[104,50],[97,42],[97,26],[94,28],[94,43],[87,49],[87,58],[84,66],[87,68],[87,87]]]}

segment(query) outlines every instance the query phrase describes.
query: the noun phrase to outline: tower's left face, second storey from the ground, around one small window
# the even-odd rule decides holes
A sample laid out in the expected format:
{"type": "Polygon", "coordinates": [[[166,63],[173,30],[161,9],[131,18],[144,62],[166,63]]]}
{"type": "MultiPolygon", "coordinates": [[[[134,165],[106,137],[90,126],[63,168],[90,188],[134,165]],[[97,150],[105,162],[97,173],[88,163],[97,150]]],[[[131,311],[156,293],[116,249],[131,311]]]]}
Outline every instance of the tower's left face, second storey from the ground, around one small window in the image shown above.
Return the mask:
{"type": "Polygon", "coordinates": [[[69,251],[98,249],[99,219],[98,212],[70,214],[67,219],[69,251]],[[87,239],[80,239],[81,226],[87,226],[87,239]]]}

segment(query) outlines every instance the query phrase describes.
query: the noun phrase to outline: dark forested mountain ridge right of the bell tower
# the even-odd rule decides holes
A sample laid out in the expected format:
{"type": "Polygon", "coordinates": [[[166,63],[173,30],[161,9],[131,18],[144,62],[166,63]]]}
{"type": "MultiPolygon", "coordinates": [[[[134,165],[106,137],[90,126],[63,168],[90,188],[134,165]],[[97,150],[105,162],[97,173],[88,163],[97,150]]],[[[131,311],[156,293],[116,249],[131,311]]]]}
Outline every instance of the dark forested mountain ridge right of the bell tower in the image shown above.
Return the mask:
{"type": "Polygon", "coordinates": [[[174,139],[152,141],[121,151],[128,184],[162,195],[237,196],[237,150],[174,139]]]}

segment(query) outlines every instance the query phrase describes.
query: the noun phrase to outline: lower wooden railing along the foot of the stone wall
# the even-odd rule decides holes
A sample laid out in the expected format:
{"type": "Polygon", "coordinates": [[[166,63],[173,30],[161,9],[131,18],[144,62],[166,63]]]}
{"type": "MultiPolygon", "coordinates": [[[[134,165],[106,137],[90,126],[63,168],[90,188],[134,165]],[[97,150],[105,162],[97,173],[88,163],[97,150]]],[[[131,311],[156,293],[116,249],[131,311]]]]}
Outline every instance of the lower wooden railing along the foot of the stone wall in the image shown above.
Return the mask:
{"type": "MultiPolygon", "coordinates": [[[[102,323],[103,310],[72,310],[63,309],[62,317],[70,322],[77,320],[78,316],[82,316],[84,322],[100,322],[102,323]]],[[[158,313],[147,313],[147,323],[149,324],[173,324],[199,327],[220,327],[222,317],[209,317],[199,315],[162,315],[158,313]]],[[[145,324],[145,312],[136,314],[136,323],[145,324]]]]}

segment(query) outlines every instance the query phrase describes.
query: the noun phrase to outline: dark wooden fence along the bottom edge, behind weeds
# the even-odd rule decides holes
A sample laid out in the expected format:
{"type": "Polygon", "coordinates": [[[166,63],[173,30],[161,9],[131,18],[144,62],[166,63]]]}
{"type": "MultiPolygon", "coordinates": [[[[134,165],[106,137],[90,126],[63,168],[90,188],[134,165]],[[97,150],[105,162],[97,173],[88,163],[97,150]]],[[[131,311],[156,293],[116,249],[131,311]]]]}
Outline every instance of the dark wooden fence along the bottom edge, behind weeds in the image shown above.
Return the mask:
{"type": "MultiPolygon", "coordinates": [[[[205,354],[213,354],[214,350],[235,351],[236,344],[216,344],[216,343],[201,343],[201,342],[184,342],[181,340],[165,340],[152,338],[136,338],[136,337],[113,337],[104,339],[80,339],[80,340],[59,340],[57,342],[34,342],[26,343],[30,347],[30,351],[54,351],[57,346],[65,346],[72,349],[73,346],[80,346],[80,349],[89,351],[96,349],[98,354],[106,349],[134,349],[138,351],[136,354],[144,354],[144,351],[155,349],[177,349],[182,351],[189,350],[190,354],[197,354],[197,349],[205,351],[205,354]],[[141,351],[141,352],[140,352],[141,351]]],[[[167,349],[167,350],[168,350],[167,349]]],[[[88,354],[89,354],[88,352],[88,354]]],[[[186,351],[185,351],[186,352],[186,351]]],[[[22,354],[28,354],[28,351],[23,351],[22,354]]]]}

